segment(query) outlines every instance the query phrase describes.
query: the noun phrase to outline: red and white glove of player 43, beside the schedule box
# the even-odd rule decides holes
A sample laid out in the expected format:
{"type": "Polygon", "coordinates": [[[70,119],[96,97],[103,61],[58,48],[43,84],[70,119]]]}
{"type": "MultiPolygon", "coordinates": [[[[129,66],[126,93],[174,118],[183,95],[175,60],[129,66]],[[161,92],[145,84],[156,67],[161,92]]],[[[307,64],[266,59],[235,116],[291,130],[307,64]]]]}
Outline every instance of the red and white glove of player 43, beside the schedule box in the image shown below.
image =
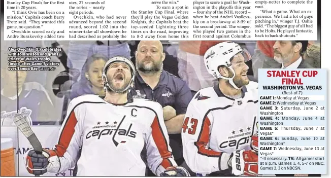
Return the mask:
{"type": "Polygon", "coordinates": [[[257,176],[258,156],[252,151],[236,150],[231,154],[228,165],[234,175],[257,176]]]}

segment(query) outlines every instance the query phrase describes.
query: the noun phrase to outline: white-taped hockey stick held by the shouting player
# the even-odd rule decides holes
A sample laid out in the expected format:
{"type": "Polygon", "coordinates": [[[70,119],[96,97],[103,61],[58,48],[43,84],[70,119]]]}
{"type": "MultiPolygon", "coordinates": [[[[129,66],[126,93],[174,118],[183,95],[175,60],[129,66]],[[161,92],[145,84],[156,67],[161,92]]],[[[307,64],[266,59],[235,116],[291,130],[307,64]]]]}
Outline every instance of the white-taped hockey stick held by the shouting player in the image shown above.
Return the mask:
{"type": "MultiPolygon", "coordinates": [[[[18,129],[23,133],[23,135],[29,140],[31,146],[34,148],[37,154],[42,154],[43,147],[38,140],[34,131],[32,131],[30,125],[26,122],[26,117],[22,116],[19,113],[14,115],[14,123],[18,127],[18,129]]],[[[35,175],[39,176],[39,175],[35,175]]]]}

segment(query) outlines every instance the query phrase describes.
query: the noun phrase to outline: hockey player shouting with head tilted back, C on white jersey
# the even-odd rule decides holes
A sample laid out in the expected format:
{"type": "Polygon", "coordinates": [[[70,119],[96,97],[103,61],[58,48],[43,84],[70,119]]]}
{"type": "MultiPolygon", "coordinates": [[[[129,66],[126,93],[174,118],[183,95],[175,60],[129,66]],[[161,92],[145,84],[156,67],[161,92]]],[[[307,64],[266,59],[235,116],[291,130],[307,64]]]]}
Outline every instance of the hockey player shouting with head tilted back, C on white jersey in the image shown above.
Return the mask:
{"type": "Polygon", "coordinates": [[[106,96],[74,98],[55,149],[27,153],[28,172],[56,173],[77,163],[77,176],[144,176],[146,165],[141,154],[146,149],[147,164],[156,175],[189,176],[173,159],[161,105],[127,98],[135,74],[129,59],[109,59],[102,77],[106,96]]]}

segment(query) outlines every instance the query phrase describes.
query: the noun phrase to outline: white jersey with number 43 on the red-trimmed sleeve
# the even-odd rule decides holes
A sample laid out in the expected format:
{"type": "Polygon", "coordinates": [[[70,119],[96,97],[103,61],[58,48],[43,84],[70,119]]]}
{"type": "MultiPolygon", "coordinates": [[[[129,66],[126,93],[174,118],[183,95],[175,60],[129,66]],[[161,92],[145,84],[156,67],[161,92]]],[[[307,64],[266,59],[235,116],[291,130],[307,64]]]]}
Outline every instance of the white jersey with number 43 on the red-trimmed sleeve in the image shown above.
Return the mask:
{"type": "Polygon", "coordinates": [[[257,129],[257,102],[254,82],[243,87],[239,99],[225,96],[218,85],[194,95],[182,128],[183,156],[193,172],[202,175],[230,172],[227,164],[230,154],[235,150],[251,150],[250,137],[257,129]]]}

